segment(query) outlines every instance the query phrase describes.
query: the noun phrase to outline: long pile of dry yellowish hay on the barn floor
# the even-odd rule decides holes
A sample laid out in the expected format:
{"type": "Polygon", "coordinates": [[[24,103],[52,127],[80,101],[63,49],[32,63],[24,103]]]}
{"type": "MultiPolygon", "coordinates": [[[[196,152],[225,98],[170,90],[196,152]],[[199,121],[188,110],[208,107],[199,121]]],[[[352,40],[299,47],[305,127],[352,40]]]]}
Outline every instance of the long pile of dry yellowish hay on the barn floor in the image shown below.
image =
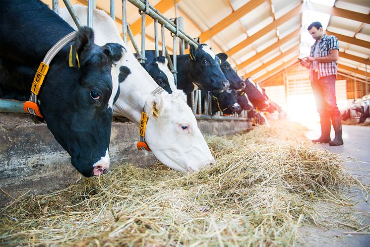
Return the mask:
{"type": "MultiPolygon", "coordinates": [[[[289,246],[315,202],[355,180],[301,125],[207,137],[217,165],[183,175],[129,164],[1,211],[0,244],[289,246]]],[[[333,204],[334,205],[334,204],[333,204]]]]}

